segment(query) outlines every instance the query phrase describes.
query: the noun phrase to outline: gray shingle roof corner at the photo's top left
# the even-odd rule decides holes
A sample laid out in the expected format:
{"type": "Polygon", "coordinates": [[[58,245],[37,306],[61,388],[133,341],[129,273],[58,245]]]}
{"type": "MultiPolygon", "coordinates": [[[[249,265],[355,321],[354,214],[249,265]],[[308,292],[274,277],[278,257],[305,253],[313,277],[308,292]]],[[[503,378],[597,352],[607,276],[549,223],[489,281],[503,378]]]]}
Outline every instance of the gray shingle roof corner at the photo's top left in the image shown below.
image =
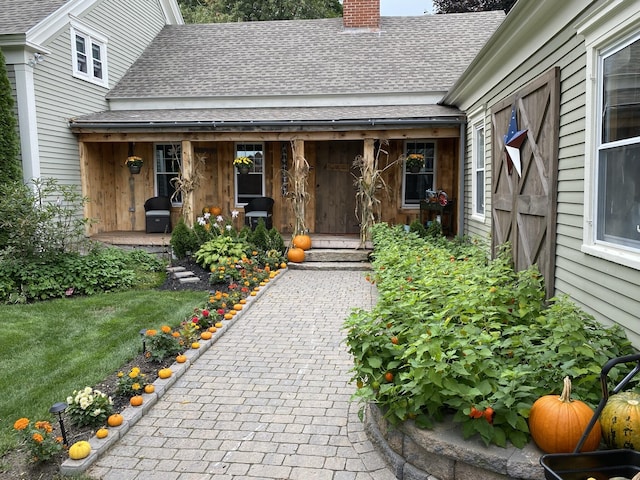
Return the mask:
{"type": "Polygon", "coordinates": [[[67,0],[0,0],[0,35],[26,33],[67,0]]]}

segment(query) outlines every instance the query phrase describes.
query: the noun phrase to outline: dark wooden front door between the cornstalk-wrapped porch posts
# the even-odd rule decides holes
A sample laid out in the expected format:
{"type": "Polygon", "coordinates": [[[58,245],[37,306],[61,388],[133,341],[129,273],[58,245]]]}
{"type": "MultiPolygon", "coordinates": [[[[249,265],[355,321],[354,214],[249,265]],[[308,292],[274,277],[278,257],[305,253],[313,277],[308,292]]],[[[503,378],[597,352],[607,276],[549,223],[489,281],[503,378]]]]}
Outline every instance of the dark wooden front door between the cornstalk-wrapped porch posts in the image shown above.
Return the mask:
{"type": "Polygon", "coordinates": [[[358,233],[356,191],[351,172],[362,155],[361,141],[318,142],[316,158],[315,233],[358,233]]]}

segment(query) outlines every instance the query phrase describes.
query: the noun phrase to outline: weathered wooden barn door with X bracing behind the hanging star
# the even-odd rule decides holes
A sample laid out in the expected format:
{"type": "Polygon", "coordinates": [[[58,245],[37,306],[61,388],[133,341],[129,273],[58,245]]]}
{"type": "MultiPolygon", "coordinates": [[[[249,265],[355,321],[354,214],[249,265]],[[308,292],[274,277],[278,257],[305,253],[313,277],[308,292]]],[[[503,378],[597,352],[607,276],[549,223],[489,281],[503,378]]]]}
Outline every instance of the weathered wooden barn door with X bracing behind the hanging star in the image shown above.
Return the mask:
{"type": "Polygon", "coordinates": [[[511,242],[516,270],[537,264],[547,297],[555,278],[560,69],[554,68],[491,109],[493,123],[492,239],[495,255],[511,242]],[[504,136],[515,105],[522,175],[509,165],[504,136]]]}

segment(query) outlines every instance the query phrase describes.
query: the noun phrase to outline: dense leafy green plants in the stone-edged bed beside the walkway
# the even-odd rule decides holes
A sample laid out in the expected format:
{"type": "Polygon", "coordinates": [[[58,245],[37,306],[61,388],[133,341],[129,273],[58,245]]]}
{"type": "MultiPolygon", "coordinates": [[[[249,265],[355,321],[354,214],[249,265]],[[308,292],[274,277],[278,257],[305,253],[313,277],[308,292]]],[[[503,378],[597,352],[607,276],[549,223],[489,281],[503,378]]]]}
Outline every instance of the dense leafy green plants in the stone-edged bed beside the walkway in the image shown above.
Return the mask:
{"type": "Polygon", "coordinates": [[[620,328],[564,297],[547,304],[540,273],[515,272],[506,248],[489,261],[471,241],[425,240],[384,224],[373,232],[378,303],[345,326],[355,398],[379,404],[391,422],[430,427],[452,416],[465,438],[522,447],[537,398],[559,393],[569,375],[574,397],[594,405],[604,363],[632,353],[620,328]]]}

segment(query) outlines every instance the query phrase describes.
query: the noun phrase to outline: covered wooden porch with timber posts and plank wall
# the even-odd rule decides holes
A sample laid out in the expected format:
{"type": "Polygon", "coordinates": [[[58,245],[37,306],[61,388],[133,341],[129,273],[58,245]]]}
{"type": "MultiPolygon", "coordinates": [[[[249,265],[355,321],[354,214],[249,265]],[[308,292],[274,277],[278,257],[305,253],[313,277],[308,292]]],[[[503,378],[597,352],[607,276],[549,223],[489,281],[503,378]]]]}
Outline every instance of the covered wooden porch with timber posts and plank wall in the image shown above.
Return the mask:
{"type": "MultiPolygon", "coordinates": [[[[407,111],[418,107],[403,107],[407,111]]],[[[423,106],[419,110],[424,114],[423,106]]],[[[244,205],[251,196],[274,199],[273,226],[285,236],[294,231],[290,197],[295,154],[308,164],[305,226],[310,233],[357,235],[354,168],[356,157],[377,162],[386,192],[380,191],[379,220],[410,224],[420,219],[426,191],[444,190],[461,205],[460,159],[464,121],[460,112],[430,106],[441,115],[412,119],[346,121],[145,122],[110,121],[103,112],[72,122],[80,145],[83,194],[90,199],[85,216],[95,219],[87,232],[145,232],[144,202],[171,196],[171,224],[182,217],[193,225],[203,208],[217,207],[225,218],[234,210],[244,224],[244,205]],[[446,112],[446,115],[442,113],[446,112]],[[399,161],[407,151],[421,149],[428,160],[420,172],[409,172],[399,161]],[[254,170],[240,174],[233,160],[241,152],[259,156],[254,170]],[[179,152],[168,159],[168,152],[179,152]],[[142,157],[140,173],[125,165],[128,156],[142,157]],[[175,194],[174,181],[186,185],[175,194]]],[[[149,113],[149,115],[152,115],[149,113]]],[[[157,115],[154,112],[153,115],[157,115]]],[[[458,231],[454,212],[451,234],[458,231]]],[[[170,235],[168,236],[170,238],[170,235]]],[[[153,238],[153,237],[149,237],[153,238]]]]}

